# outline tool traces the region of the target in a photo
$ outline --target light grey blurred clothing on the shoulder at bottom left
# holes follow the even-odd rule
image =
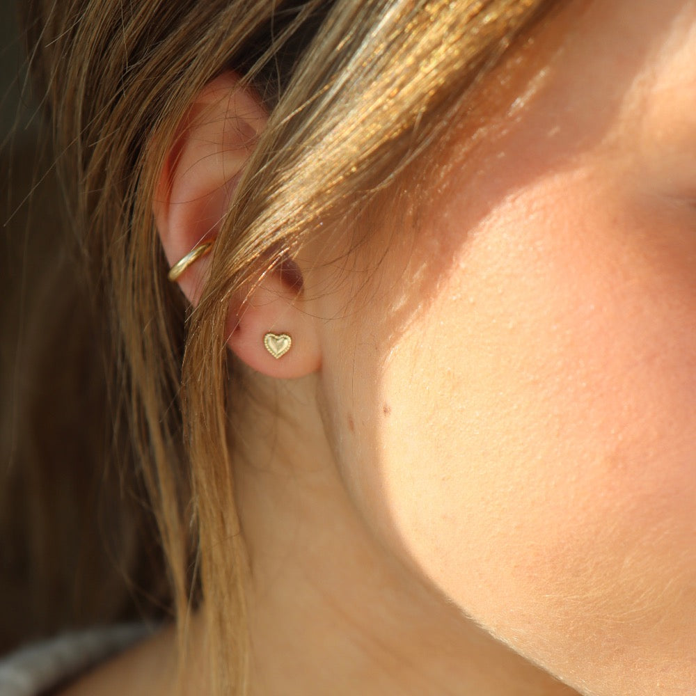
[[[141,624],[95,628],[19,649],[0,659],[0,696],[41,696],[141,640]]]

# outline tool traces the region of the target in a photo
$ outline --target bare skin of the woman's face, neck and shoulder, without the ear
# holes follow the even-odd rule
[[[322,368],[240,422],[253,694],[696,690],[696,2],[571,26],[411,232],[298,259]]]

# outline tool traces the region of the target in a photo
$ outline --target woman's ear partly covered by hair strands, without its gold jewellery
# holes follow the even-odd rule
[[[170,266],[200,242],[214,242],[266,123],[260,98],[251,88],[240,88],[233,72],[223,73],[198,95],[164,163],[153,203]],[[203,256],[177,278],[193,306],[200,299],[209,264],[210,256]],[[230,310],[228,345],[242,361],[258,372],[285,379],[318,370],[316,320],[304,308],[302,275],[293,262],[287,260],[269,271],[236,304]],[[264,343],[268,333],[289,335],[290,350],[279,358],[271,354]],[[271,348],[284,341],[267,340]]]

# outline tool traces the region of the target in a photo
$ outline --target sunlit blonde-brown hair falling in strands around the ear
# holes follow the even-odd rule
[[[24,3],[29,63],[54,128],[70,224],[111,310],[114,393],[129,413],[175,612],[184,626],[205,600],[219,693],[244,693],[248,672],[230,424],[244,391],[226,351],[230,298],[320,223],[377,205],[447,131],[473,86],[558,4]],[[230,68],[270,117],[190,312],[166,283],[152,196],[196,95]]]

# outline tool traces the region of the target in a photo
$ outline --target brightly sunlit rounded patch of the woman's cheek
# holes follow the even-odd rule
[[[693,645],[696,293],[659,228],[529,198],[553,204],[491,216],[390,352],[375,514],[501,638],[606,673],[612,641]]]

